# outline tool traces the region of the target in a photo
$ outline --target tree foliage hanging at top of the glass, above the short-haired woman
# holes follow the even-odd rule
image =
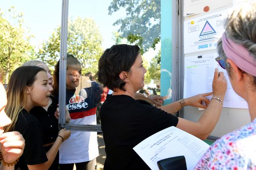
[[[142,54],[160,41],[160,0],[113,0],[108,14],[125,8],[127,17],[113,23],[122,37],[140,46]]]

